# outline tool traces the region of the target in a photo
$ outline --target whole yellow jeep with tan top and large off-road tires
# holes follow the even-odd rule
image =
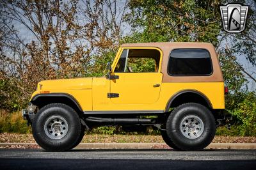
[[[48,151],[77,146],[84,130],[153,127],[175,150],[202,150],[225,122],[223,75],[211,43],[127,43],[106,77],[39,82],[24,119]]]

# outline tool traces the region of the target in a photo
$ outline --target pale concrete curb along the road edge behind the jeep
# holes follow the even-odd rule
[[[0,143],[6,146],[38,146],[36,143]],[[165,143],[80,143],[76,149],[167,149]],[[205,149],[218,150],[256,150],[256,143],[211,143]]]

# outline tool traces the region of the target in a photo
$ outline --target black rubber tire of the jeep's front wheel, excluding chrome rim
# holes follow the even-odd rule
[[[45,134],[45,121],[51,116],[61,116],[68,123],[68,132],[62,139],[51,139]],[[76,111],[64,104],[46,105],[35,116],[32,132],[36,143],[49,151],[65,151],[74,146],[81,133],[81,123]]]

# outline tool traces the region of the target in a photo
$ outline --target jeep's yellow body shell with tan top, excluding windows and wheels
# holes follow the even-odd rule
[[[173,49],[180,48],[206,49],[209,51],[212,61],[212,74],[205,76],[168,75],[166,68],[170,52]],[[125,49],[158,50],[160,59],[157,72],[115,72],[116,65]],[[195,97],[203,98],[205,100],[204,105],[211,109],[225,109],[223,77],[216,52],[211,43],[124,44],[116,53],[110,74],[117,75],[118,79],[90,77],[39,82],[31,97],[31,102],[38,100],[40,96],[63,95],[63,97],[70,97],[72,102],[76,102],[77,107],[84,114],[150,114],[168,112],[175,98],[189,93],[194,94]],[[117,94],[118,97],[109,97],[108,94]],[[196,101],[199,100],[191,98],[189,102]],[[201,99],[200,102],[202,102]],[[40,102],[35,103],[40,105]],[[179,104],[181,103],[182,101],[179,101]]]

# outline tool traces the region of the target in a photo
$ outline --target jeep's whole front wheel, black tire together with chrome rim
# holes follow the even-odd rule
[[[80,140],[82,129],[77,112],[65,104],[45,105],[32,123],[36,143],[47,151],[74,148]]]

